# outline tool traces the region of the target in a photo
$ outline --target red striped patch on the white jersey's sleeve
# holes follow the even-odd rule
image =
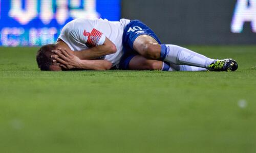
[[[99,39],[101,38],[103,33],[101,33],[100,31],[93,29],[91,33],[89,33],[86,45],[88,47],[94,47],[97,45],[97,43],[99,42]],[[84,32],[83,32],[84,35]],[[87,35],[87,32],[86,34]]]

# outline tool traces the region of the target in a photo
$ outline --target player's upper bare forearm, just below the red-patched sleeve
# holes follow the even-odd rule
[[[99,45],[93,48],[84,49],[78,52],[74,52],[75,56],[77,56],[81,60],[92,60],[98,59],[105,55],[110,55],[116,53],[115,46],[106,46],[106,45]]]

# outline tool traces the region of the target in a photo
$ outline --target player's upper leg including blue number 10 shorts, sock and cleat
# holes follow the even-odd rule
[[[124,30],[124,45],[147,59],[166,61],[177,65],[190,65],[214,71],[236,70],[231,59],[214,60],[187,48],[161,44],[156,34],[140,21],[132,21]]]

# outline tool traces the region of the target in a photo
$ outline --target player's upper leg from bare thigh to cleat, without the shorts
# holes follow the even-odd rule
[[[149,35],[138,36],[133,48],[146,58],[164,60],[177,65],[190,65],[216,71],[236,70],[238,67],[236,61],[231,59],[214,60],[181,46],[160,45]]]

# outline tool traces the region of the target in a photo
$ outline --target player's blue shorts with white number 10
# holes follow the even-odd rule
[[[124,55],[119,64],[119,69],[129,69],[129,63],[136,55],[139,53],[136,52],[133,48],[133,43],[137,37],[140,35],[148,35],[156,39],[156,41],[161,44],[157,35],[151,30],[147,25],[142,23],[139,20],[133,20],[126,25],[123,32],[123,51]]]

